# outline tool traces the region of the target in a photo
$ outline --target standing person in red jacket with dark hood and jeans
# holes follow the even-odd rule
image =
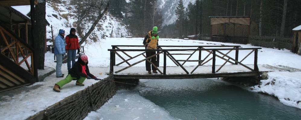
[[[79,44],[78,44],[78,37],[75,35],[75,28],[70,29],[70,34],[66,36],[66,52],[68,53],[68,63],[67,67],[68,70],[71,69],[71,67],[75,63],[75,57],[76,57],[76,49],[77,49],[77,54],[79,55]],[[71,65],[72,61],[72,65]]]

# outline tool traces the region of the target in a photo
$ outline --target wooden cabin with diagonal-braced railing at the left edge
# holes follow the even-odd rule
[[[0,1],[0,92],[37,82],[30,18],[11,7],[18,5],[30,5],[30,0]]]

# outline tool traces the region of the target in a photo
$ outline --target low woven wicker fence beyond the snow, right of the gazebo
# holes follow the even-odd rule
[[[270,36],[250,36],[249,44],[255,46],[278,48],[278,49],[289,49],[292,50],[293,38],[283,38],[283,37],[270,37]]]

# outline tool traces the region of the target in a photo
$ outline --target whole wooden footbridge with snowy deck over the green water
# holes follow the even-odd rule
[[[121,47],[138,47],[139,49],[120,49]],[[269,65],[257,64],[258,49],[261,48],[241,48],[241,46],[158,46],[158,48],[145,49],[144,46],[136,45],[112,45],[112,49],[108,49],[110,51],[110,66],[107,69],[107,74],[113,73],[114,78],[117,79],[190,79],[258,76],[260,74],[259,69],[264,71],[273,70]],[[155,51],[156,54],[146,57],[145,53],[147,51]],[[242,57],[240,56],[241,59],[239,59],[239,51],[245,53]],[[134,52],[135,56],[131,56],[130,52]],[[121,58],[122,62],[116,64],[116,55]],[[175,55],[181,55],[181,57],[176,56],[178,57],[176,58]],[[185,56],[182,55],[186,55],[187,58],[183,59]],[[137,65],[143,61],[155,65],[149,60],[154,56],[157,56],[157,66],[155,68],[159,73],[148,74],[145,66]],[[160,57],[163,57],[163,66],[161,67],[159,67]],[[246,58],[249,58],[248,62],[250,63],[250,57],[253,64],[243,64]],[[174,63],[173,66],[166,65],[167,58],[172,61],[169,63]],[[217,59],[224,61],[223,64],[216,65]],[[133,60],[136,61],[130,64],[130,61]],[[196,64],[184,65],[187,62]],[[121,64],[127,64],[127,66],[120,66]]]

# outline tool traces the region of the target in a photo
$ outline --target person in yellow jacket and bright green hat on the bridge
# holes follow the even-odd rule
[[[148,34],[145,36],[143,45],[145,46],[145,49],[157,49],[158,47],[158,41],[159,41],[159,36],[158,36],[158,27],[155,26],[153,27],[152,31],[149,31]],[[152,55],[155,55],[156,51],[149,51],[146,52],[146,57],[150,57]],[[157,57],[153,56],[152,58],[149,59],[155,66],[157,66]],[[153,73],[158,73],[155,68],[155,66],[152,65],[152,72]],[[148,71],[149,74],[151,74],[151,64],[148,61],[145,61],[145,66],[146,66],[146,71]]]

